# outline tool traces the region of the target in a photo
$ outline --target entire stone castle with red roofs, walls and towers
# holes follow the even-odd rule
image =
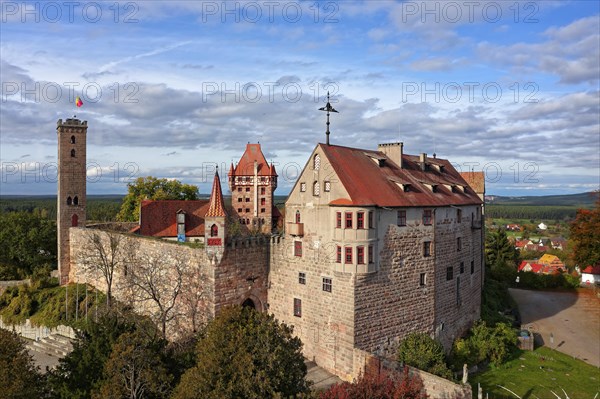
[[[293,325],[307,358],[351,379],[366,355],[393,351],[412,331],[450,348],[480,316],[482,173],[467,181],[447,160],[404,154],[402,143],[317,144],[282,216],[275,168],[248,144],[228,174],[230,208],[216,173],[208,202],[144,202],[138,235],[120,234],[85,227],[87,127],[57,125],[61,282],[106,289],[90,242],[110,249],[118,239],[114,296],[162,321],[167,335],[197,329],[223,306],[252,306]],[[265,234],[232,238],[232,220]],[[284,233],[270,234],[277,223]],[[177,243],[194,240],[203,247]],[[134,281],[144,271],[158,273],[165,293],[182,287],[170,314]]]

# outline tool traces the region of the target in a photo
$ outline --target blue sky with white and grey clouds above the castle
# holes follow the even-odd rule
[[[224,188],[260,142],[287,195],[319,142],[482,170],[491,195],[600,188],[597,1],[0,1],[0,194],[55,194],[88,121],[88,194]],[[75,106],[80,96],[83,106]]]

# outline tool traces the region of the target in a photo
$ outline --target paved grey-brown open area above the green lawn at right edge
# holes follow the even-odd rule
[[[543,344],[600,367],[600,300],[593,293],[509,289],[524,327]]]

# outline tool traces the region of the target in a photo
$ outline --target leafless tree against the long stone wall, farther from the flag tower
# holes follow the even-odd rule
[[[134,302],[146,306],[150,318],[161,327],[166,337],[167,323],[176,316],[178,298],[188,265],[184,252],[171,254],[138,253],[128,265],[127,283]]]

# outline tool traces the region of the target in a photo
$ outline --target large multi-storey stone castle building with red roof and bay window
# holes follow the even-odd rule
[[[450,348],[480,314],[482,207],[445,159],[318,144],[286,202],[269,309],[338,375],[411,331]]]

